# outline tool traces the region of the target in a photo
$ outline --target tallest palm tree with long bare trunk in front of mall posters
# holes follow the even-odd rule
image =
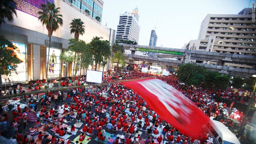
[[[40,16],[38,17],[38,20],[40,20],[40,22],[42,22],[42,25],[46,25],[46,29],[48,30],[48,37],[49,37],[49,49],[48,49],[48,57],[47,57],[47,62],[46,62],[46,82],[47,82],[47,67],[48,67],[48,60],[49,60],[49,54],[50,54],[50,45],[51,45],[51,37],[52,37],[52,33],[56,30],[58,30],[58,28],[60,26],[62,26],[63,24],[63,20],[62,20],[62,14],[58,14],[59,11],[59,7],[55,8],[55,4],[54,3],[50,3],[47,1],[46,4],[41,4],[41,8],[42,10],[37,12]]]

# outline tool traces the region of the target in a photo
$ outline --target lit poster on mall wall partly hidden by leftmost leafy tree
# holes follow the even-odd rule
[[[15,56],[20,63],[16,68],[16,71],[13,71],[11,75],[2,75],[2,83],[11,83],[11,82],[24,82],[27,80],[27,61],[26,61],[26,44],[12,42],[16,49],[10,48],[15,53]]]

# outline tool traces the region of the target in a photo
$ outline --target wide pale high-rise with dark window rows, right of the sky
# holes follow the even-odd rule
[[[201,23],[198,40],[191,40],[185,47],[256,56],[256,23],[252,22],[252,9],[245,8],[238,14],[207,14]],[[253,67],[232,62],[225,62],[223,65],[248,69]]]

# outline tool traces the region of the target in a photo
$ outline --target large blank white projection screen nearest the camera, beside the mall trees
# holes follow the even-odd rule
[[[86,82],[102,83],[102,72],[96,70],[86,70]]]

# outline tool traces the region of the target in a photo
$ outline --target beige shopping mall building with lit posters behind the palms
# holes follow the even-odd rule
[[[17,17],[13,22],[2,24],[0,33],[15,44],[24,62],[18,64],[16,72],[11,76],[2,75],[3,83],[28,82],[30,80],[44,79],[46,76],[46,60],[48,55],[48,31],[46,26],[38,20],[37,12],[40,4],[46,0],[14,0],[17,3]],[[89,43],[93,37],[108,40],[114,44],[116,31],[102,26],[95,17],[102,17],[102,0],[48,0],[60,7],[63,25],[52,34],[50,56],[56,58],[54,72],[48,70],[48,78],[60,78],[66,76],[66,68],[60,60],[60,54],[68,48],[68,40],[74,38],[70,34],[70,22],[74,18],[80,18],[84,22],[85,33],[80,39]],[[89,14],[84,10],[89,10]],[[80,72],[78,72],[80,74]],[[81,72],[85,74],[85,70]],[[67,64],[67,76],[72,75],[72,63]]]

